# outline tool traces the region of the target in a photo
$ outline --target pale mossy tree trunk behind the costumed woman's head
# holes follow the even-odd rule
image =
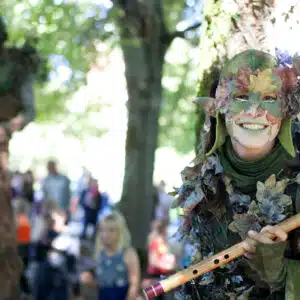
[[[218,69],[224,59],[246,49],[274,51],[268,38],[268,24],[273,22],[274,0],[206,0],[205,22],[200,42],[198,96],[212,96]],[[205,115],[199,107],[196,123],[196,149],[203,150],[201,132]]]

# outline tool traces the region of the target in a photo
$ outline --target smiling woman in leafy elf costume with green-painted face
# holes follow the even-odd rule
[[[224,66],[216,97],[197,99],[209,116],[207,145],[202,159],[183,170],[175,201],[185,212],[180,237],[195,248],[191,263],[245,239],[249,230],[274,232],[267,225],[300,207],[300,176],[288,166],[295,155],[291,120],[300,111],[298,64],[299,57],[287,66],[268,53],[244,51]],[[288,243],[286,234],[275,236],[277,243],[250,232],[248,259],[199,277],[177,298],[194,299],[197,289],[204,300],[298,299],[300,264],[293,260],[300,258],[300,233]]]

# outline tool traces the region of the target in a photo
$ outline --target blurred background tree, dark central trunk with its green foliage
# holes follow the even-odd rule
[[[89,134],[90,113],[99,109],[100,104],[91,103],[82,113],[74,114],[68,109],[68,98],[84,85],[86,73],[97,61],[100,43],[105,42],[110,48],[121,46],[129,98],[121,207],[129,221],[134,244],[139,247],[144,246],[153,210],[153,162],[161,110],[163,144],[169,144],[164,137],[170,139],[174,135],[184,151],[190,150],[187,144],[192,145],[191,135],[187,143],[181,142],[185,126],[179,133],[174,130],[177,124],[186,125],[181,114],[174,118],[165,115],[183,107],[182,99],[192,91],[185,89],[184,82],[190,62],[184,61],[176,68],[166,64],[164,58],[176,38],[188,38],[191,45],[196,45],[197,35],[192,31],[200,23],[194,20],[193,14],[200,15],[199,2],[116,0],[111,5],[109,1],[96,4],[93,1],[3,0],[0,4],[9,24],[9,42],[22,46],[25,39],[30,39],[46,58],[42,75],[48,82],[38,84],[35,89],[38,120],[63,121],[68,125],[66,132],[73,135]],[[192,21],[186,22],[189,19]],[[164,94],[163,73],[180,78],[178,87],[173,91],[165,89]],[[185,108],[182,115],[183,111]],[[172,122],[163,122],[169,117]],[[188,129],[192,129],[191,125]]]

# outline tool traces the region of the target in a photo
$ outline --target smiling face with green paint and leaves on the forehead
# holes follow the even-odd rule
[[[277,137],[282,121],[280,78],[271,69],[240,69],[228,90],[227,132],[245,148],[263,149]]]

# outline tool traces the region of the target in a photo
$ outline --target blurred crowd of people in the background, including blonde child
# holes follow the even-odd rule
[[[156,189],[144,271],[124,217],[97,180],[85,171],[71,189],[70,179],[55,161],[48,162],[47,170],[38,185],[31,171],[11,174],[24,264],[16,299],[136,300],[142,287],[175,270],[182,253],[170,247],[172,197],[163,181]]]

